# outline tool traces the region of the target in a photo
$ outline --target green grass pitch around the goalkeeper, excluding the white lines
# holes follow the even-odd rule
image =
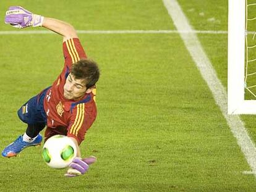
[[[179,0],[196,30],[227,30],[228,1]],[[77,30],[175,30],[158,0],[3,1],[66,20]],[[26,30],[42,30],[29,28]],[[255,191],[254,175],[181,37],[79,34],[100,65],[98,117],[81,144],[98,161],[81,177],[49,168],[41,147],[0,158],[0,191]],[[227,86],[227,35],[198,34]],[[63,66],[55,34],[0,35],[0,148],[23,134],[16,111],[51,85]],[[253,141],[255,118],[242,115]]]

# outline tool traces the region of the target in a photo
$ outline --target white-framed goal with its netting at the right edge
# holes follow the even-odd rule
[[[228,114],[256,114],[256,0],[229,0]]]

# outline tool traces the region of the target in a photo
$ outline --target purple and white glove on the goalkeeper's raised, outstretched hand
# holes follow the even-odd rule
[[[25,28],[30,26],[41,27],[43,20],[44,17],[41,15],[32,14],[32,12],[20,6],[12,6],[6,11],[4,22],[11,24],[12,27]]]

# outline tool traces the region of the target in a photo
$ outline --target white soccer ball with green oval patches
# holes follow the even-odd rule
[[[43,145],[43,159],[49,167],[62,169],[77,156],[77,147],[68,136],[54,135]]]

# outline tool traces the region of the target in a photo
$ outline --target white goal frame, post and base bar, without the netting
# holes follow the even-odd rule
[[[256,101],[245,100],[245,3],[228,4],[228,114],[256,114]]]

